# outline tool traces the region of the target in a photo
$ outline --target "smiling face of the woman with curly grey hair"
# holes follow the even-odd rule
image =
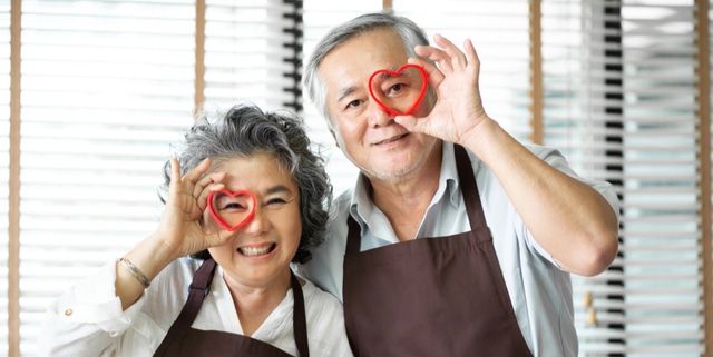
[[[223,267],[228,286],[268,287],[276,281],[289,281],[290,261],[302,236],[297,184],[266,153],[233,158],[213,171],[227,173],[222,181],[225,189],[232,192],[248,190],[256,199],[255,216],[236,230],[224,231],[232,235],[225,245],[208,248],[215,261]],[[241,205],[225,196],[216,195],[214,198],[214,209],[218,215],[228,216],[231,210],[244,209],[235,206]],[[223,229],[208,210],[203,218],[207,231]]]

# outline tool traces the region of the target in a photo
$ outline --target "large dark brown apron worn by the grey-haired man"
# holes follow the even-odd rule
[[[455,146],[470,231],[361,251],[349,217],[344,317],[354,356],[533,356],[510,304],[465,149]]]

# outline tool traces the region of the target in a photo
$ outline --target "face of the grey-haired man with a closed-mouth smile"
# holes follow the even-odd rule
[[[370,178],[388,180],[414,172],[438,142],[409,132],[369,95],[369,78],[374,71],[395,70],[407,65],[407,59],[401,38],[390,29],[377,29],[334,48],[319,68],[336,143]],[[424,117],[431,106],[424,98],[412,115]]]

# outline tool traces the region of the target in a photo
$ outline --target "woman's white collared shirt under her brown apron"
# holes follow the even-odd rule
[[[188,297],[188,286],[203,260],[182,258],[152,281],[126,310],[116,297],[115,262],[80,281],[48,308],[39,334],[40,356],[150,357],[163,341]],[[311,356],[352,356],[341,304],[307,281],[303,287]],[[282,303],[251,336],[297,356],[290,289]],[[217,266],[195,329],[243,334],[233,298]]]

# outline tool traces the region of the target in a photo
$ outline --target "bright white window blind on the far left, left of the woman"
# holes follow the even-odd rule
[[[20,351],[49,303],[157,224],[192,122],[193,1],[22,1]]]

